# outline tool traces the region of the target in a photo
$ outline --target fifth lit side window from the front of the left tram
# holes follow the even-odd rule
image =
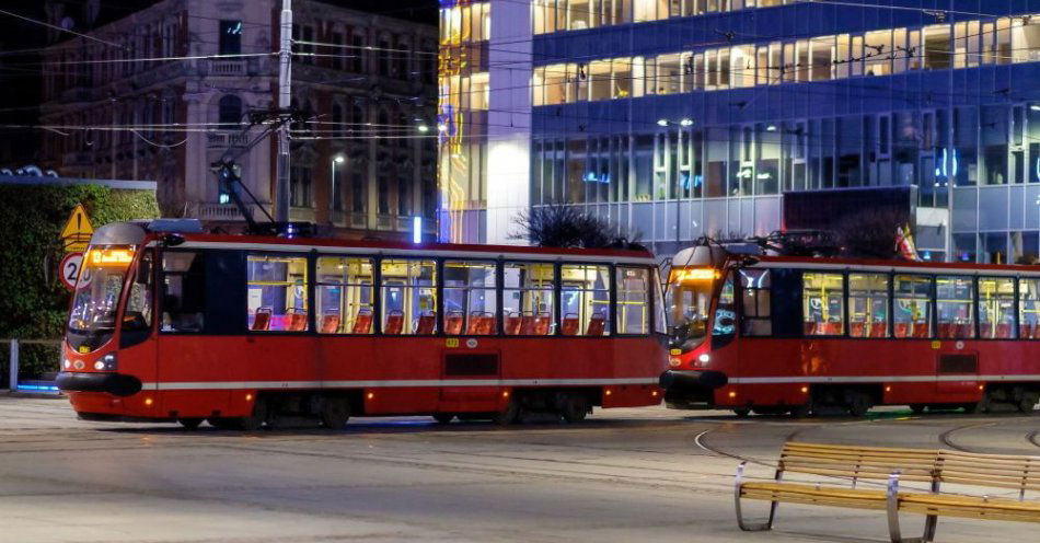
[[[502,325],[506,334],[553,334],[553,265],[507,263],[502,273]]]

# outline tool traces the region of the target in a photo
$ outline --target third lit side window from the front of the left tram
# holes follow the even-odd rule
[[[383,334],[437,332],[437,263],[386,258],[382,262]]]

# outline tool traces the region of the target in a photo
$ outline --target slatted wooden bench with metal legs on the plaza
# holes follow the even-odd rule
[[[889,535],[897,543],[932,541],[940,516],[1040,522],[1040,501],[1026,499],[1027,492],[1040,490],[1040,458],[789,442],[781,452],[773,481],[744,481],[746,466],[747,462],[741,462],[737,469],[735,488],[737,524],[744,531],[772,529],[782,501],[885,510]],[[785,481],[786,474],[823,476],[830,482]],[[864,481],[877,486],[859,485]],[[900,488],[905,482],[921,483],[922,487]],[[1018,496],[993,498],[940,492],[944,484],[975,490],[1018,490]],[[742,498],[770,501],[769,520],[746,522]],[[902,538],[900,511],[926,517],[922,538]]]

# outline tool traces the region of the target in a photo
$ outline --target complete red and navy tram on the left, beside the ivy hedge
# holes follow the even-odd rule
[[[91,240],[58,386],[82,418],[277,426],[660,403],[645,251],[405,245],[115,223]],[[285,417],[285,418],[284,418]]]

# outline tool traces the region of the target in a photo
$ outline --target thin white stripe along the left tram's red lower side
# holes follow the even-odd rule
[[[212,381],[143,383],[145,390],[241,390],[241,389],[379,389],[426,386],[590,386],[606,384],[657,384],[657,378],[612,379],[421,379],[393,381]]]

